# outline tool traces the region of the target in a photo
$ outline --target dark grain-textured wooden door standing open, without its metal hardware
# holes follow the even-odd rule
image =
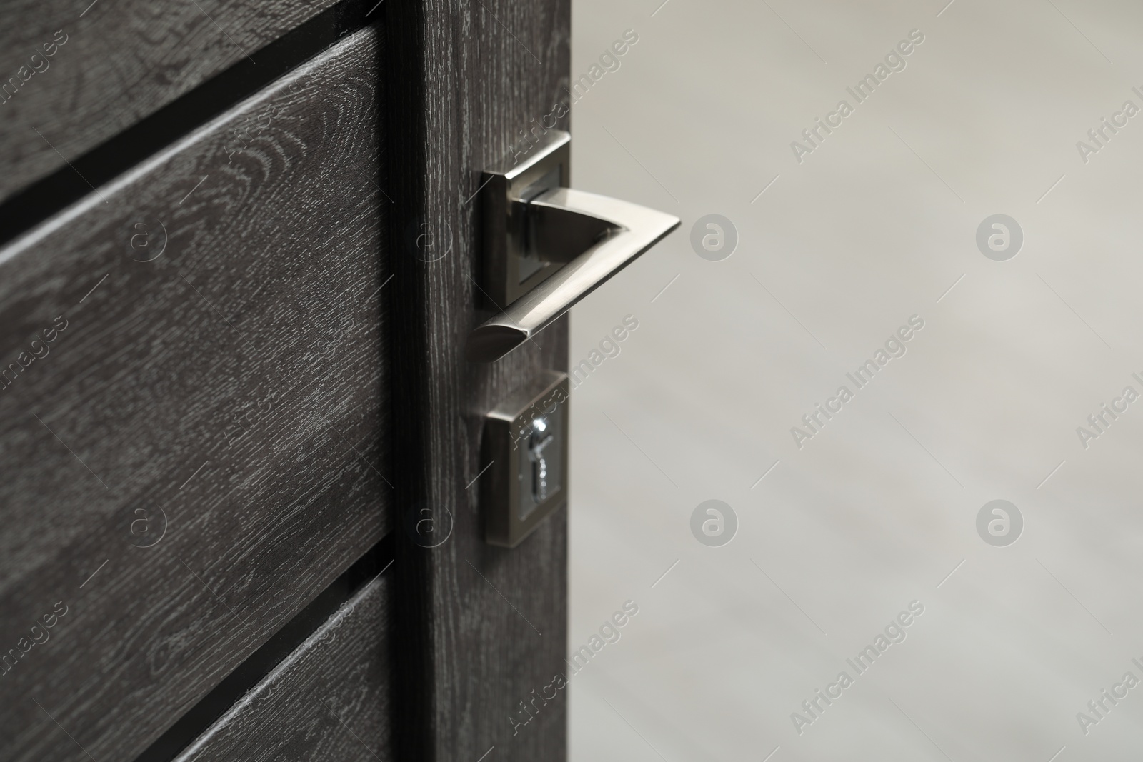
[[[565,513],[473,484],[566,322],[464,339],[567,3],[81,5],[0,32],[0,759],[561,759]]]

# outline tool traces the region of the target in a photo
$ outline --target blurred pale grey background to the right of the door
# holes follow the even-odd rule
[[[1138,759],[1143,5],[661,2],[573,5],[574,77],[638,35],[573,106],[574,184],[682,225],[573,313],[573,366],[605,359],[572,398],[572,650],[639,611],[572,677],[572,759]],[[709,214],[720,260],[690,241]],[[996,214],[1006,260],[976,242]],[[720,546],[692,531],[711,499]],[[1023,520],[1004,546],[994,499]]]

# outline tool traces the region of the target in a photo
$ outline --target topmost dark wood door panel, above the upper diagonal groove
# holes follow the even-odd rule
[[[0,90],[0,200],[66,167],[65,159],[112,137],[334,3],[6,3],[0,26],[0,83],[7,86]]]

